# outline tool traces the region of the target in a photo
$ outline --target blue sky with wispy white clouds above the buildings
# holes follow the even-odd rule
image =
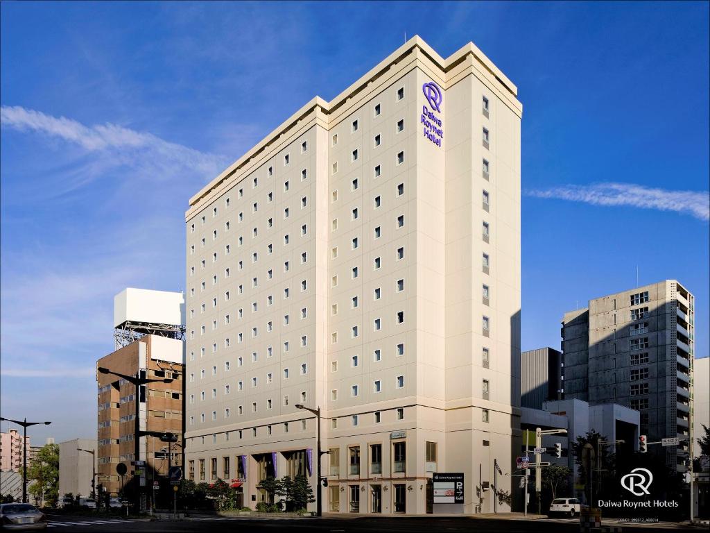
[[[708,6],[3,2],[3,416],[94,436],[112,298],[182,289],[188,198],[405,33],[473,41],[518,85],[523,349],[638,265],[694,292],[706,356]]]

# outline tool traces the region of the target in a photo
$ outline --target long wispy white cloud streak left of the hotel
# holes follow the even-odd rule
[[[206,178],[216,176],[227,162],[224,156],[171,143],[143,131],[110,123],[85,126],[72,119],[52,117],[21,106],[2,106],[0,122],[6,128],[58,137],[87,151],[120,150],[123,156],[117,160],[120,163],[126,162],[126,156],[131,157],[136,151],[141,151],[148,156],[143,157],[143,161],[169,169],[173,176],[186,169]]]

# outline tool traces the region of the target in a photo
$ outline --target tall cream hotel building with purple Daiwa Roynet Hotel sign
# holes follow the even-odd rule
[[[190,198],[187,478],[252,508],[267,475],[316,488],[304,404],[324,512],[431,512],[434,472],[493,510],[520,452],[516,95],[473,43],[414,37]]]

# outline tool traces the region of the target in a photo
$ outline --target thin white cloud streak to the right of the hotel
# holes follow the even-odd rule
[[[633,183],[593,183],[525,190],[525,195],[592,205],[630,205],[642,209],[675,211],[699,220],[710,220],[710,194],[706,190],[667,190]]]

